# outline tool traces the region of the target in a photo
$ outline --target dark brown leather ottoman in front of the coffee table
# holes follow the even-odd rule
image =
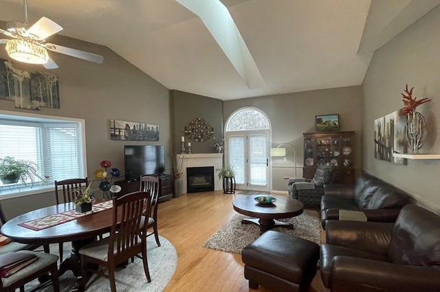
[[[274,230],[243,248],[249,287],[274,291],[307,291],[316,274],[319,245]]]

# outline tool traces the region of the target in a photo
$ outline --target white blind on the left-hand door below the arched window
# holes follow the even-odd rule
[[[228,137],[228,165],[234,167],[235,182],[245,183],[245,136]]]

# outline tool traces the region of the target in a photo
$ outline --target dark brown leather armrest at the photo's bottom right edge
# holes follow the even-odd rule
[[[377,289],[377,290],[376,290]],[[335,256],[331,291],[439,291],[440,269]]]

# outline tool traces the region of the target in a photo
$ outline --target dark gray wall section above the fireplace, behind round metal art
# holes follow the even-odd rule
[[[211,127],[214,127],[214,136],[217,140],[222,138],[223,132],[223,101],[185,93],[179,90],[170,90],[171,116],[173,117],[173,141],[175,153],[179,154],[181,149],[181,136],[184,136],[184,128],[194,118],[203,118]],[[213,153],[215,150],[210,147],[212,138],[208,141],[196,142],[185,138],[185,149],[188,151],[188,142],[191,143],[192,153]]]

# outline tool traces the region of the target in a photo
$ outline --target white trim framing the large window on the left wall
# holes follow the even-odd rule
[[[87,177],[87,153],[86,153],[86,141],[85,141],[85,119],[76,119],[70,117],[57,117],[49,116],[45,114],[34,114],[30,112],[13,112],[8,110],[0,110],[0,119],[5,119],[6,121],[11,121],[11,123],[16,123],[17,121],[23,121],[23,123],[32,123],[35,119],[39,119],[39,123],[78,123],[78,137],[80,137],[80,158],[82,158],[82,163],[80,164],[83,169],[81,171],[84,176]],[[0,200],[10,199],[14,197],[23,197],[28,195],[34,195],[38,193],[47,193],[54,191],[53,184],[42,184],[39,186],[34,186],[34,188],[26,189],[25,191],[18,191],[17,193],[0,193]]]

